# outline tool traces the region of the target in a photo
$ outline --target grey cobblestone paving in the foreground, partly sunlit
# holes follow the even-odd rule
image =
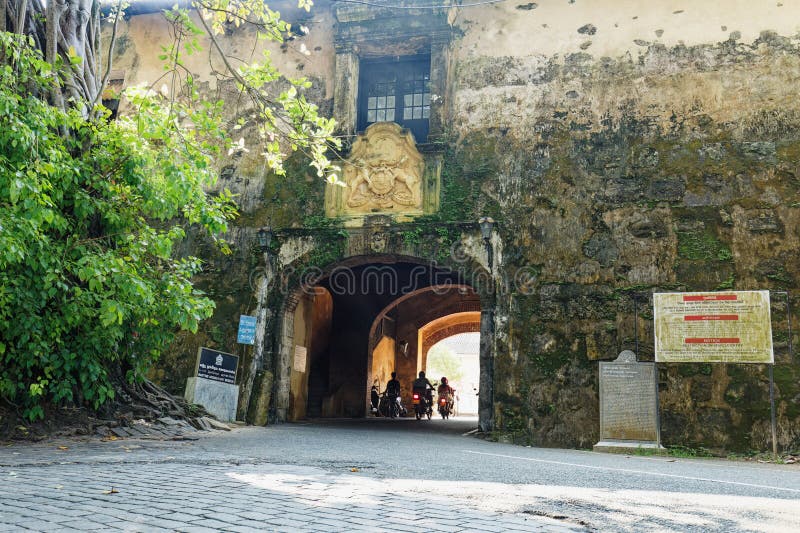
[[[253,459],[208,460],[177,446],[62,441],[5,450],[0,531],[584,529],[439,495],[430,481],[375,479],[355,467],[336,473]],[[164,455],[170,452],[175,455]]]

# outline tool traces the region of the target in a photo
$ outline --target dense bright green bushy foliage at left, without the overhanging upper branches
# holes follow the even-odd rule
[[[140,91],[135,116],[91,121],[34,96],[54,77],[31,44],[0,34],[0,395],[35,419],[47,402],[99,407],[197,329],[213,302],[173,246],[182,226],[216,235],[235,211],[203,190],[219,106],[170,111]],[[176,111],[195,127],[165,120]]]

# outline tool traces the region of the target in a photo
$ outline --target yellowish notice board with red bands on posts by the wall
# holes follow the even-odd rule
[[[659,363],[773,363],[769,291],[653,295]]]

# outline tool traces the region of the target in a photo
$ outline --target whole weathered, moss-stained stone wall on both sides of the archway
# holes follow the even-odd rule
[[[465,239],[485,267],[477,228],[464,223],[497,220],[497,429],[538,444],[596,442],[596,361],[636,347],[634,331],[640,356],[652,357],[655,290],[797,288],[800,8],[784,4],[543,0],[450,11],[447,64],[434,65],[447,69],[440,208],[389,228],[385,253],[458,266],[451,246]],[[166,27],[151,17],[122,33],[116,67],[128,84],[159,75],[154,35]],[[287,73],[311,77],[309,97],[330,110],[335,22],[320,2],[305,22],[311,34],[293,41],[310,59],[294,45],[273,51]],[[239,36],[225,39],[242,49]],[[208,73],[207,61],[192,66]],[[233,98],[204,79],[210,94]],[[253,244],[267,220],[283,229],[280,265],[324,268],[364,253],[353,230],[324,218],[323,184],[299,159],[286,178],[252,153],[220,168],[221,184],[241,195],[236,252],[191,245],[209,260],[202,285],[218,308],[165,361],[176,389],[199,344],[234,345],[235,317],[255,305],[248,280],[263,257]],[[282,297],[270,296],[273,331]],[[776,295],[779,439],[796,447],[800,364],[785,323]],[[660,365],[659,381],[666,443],[767,448],[764,367]]]

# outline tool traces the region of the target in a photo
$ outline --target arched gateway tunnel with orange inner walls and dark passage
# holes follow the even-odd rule
[[[350,257],[318,272],[291,292],[278,316],[277,421],[363,417],[371,385],[383,390],[392,371],[403,395],[410,394],[431,341],[446,337],[447,326],[491,336],[491,321],[481,320],[491,300],[480,294],[480,272],[476,283],[471,272],[383,254]],[[482,426],[492,411],[488,341],[481,342]]]

